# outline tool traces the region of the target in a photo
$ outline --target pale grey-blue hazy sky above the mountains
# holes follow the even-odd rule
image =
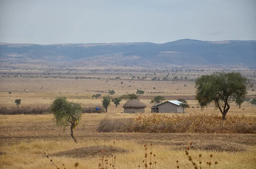
[[[0,0],[0,42],[256,40],[256,0]]]

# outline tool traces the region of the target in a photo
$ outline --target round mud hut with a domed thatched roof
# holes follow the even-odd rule
[[[124,113],[144,113],[146,105],[139,100],[128,100],[123,108]]]

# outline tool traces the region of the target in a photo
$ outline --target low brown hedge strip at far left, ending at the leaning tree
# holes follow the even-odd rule
[[[13,107],[5,107],[0,106],[0,115],[42,115],[42,114],[49,114],[49,106],[17,106]]]

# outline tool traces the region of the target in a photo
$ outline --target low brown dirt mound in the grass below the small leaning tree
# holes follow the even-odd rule
[[[120,153],[129,152],[127,149],[121,149],[119,147],[113,146],[90,146],[90,147],[81,147],[78,149],[67,150],[64,152],[58,152],[52,154],[52,156],[56,157],[69,157],[69,158],[85,158],[85,157],[93,157],[97,155],[116,155]]]

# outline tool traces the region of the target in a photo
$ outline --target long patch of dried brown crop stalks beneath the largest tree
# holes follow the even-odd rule
[[[228,115],[227,120],[215,114],[189,116],[139,115],[135,119],[100,121],[98,132],[148,133],[251,133],[256,134],[256,117]]]

